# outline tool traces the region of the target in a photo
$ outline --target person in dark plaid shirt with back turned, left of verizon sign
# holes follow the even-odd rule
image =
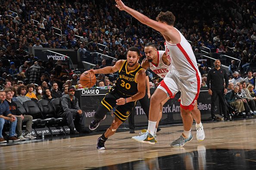
[[[37,64],[34,64],[29,68],[28,75],[30,83],[37,83],[40,81],[41,75],[44,73],[44,67],[41,66],[42,64],[43,61],[38,60]]]

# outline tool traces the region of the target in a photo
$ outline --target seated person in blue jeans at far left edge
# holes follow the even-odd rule
[[[6,99],[6,92],[0,91],[0,105],[1,105],[1,112],[0,112],[0,143],[6,143],[6,140],[2,136],[3,131],[3,124],[9,123],[9,142],[12,141],[19,141],[15,135],[15,129],[17,124],[17,119],[9,110],[9,105]]]

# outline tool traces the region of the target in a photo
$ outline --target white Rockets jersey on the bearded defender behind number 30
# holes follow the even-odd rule
[[[169,66],[165,65],[162,61],[162,55],[165,53],[165,51],[157,51],[157,64],[153,64],[152,62],[149,62],[150,64],[150,70],[152,70],[154,73],[156,73],[159,77],[164,78],[166,74],[171,69],[172,64]]]

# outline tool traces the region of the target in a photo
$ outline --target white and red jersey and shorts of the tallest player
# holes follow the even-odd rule
[[[171,98],[181,91],[181,107],[192,110],[200,93],[202,80],[193,50],[180,31],[178,32],[181,36],[180,43],[171,44],[165,41],[165,53],[172,68],[158,88]]]

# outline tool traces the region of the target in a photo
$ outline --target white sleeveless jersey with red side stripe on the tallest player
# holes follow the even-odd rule
[[[179,30],[177,31],[181,36],[180,43],[171,44],[165,41],[165,53],[167,59],[172,63],[172,72],[182,79],[189,79],[191,76],[196,75],[200,76],[196,57],[190,43],[187,42]]]

